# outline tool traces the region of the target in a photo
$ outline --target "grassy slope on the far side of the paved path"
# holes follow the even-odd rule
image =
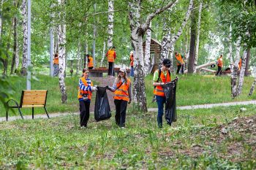
[[[79,112],[78,106],[78,78],[66,77],[65,84],[67,89],[67,104],[61,104],[61,93],[59,92],[59,78],[49,77],[46,75],[38,75],[31,80],[31,89],[48,90],[48,101],[46,107],[49,113],[53,112]],[[94,80],[92,77],[91,80]],[[157,107],[157,103],[152,103],[153,85],[152,75],[146,78],[146,97],[149,107]],[[21,90],[26,89],[26,77],[10,77],[12,88],[15,90],[14,98],[20,103]],[[194,104],[213,104],[227,101],[249,101],[256,99],[256,94],[253,93],[248,97],[249,88],[252,85],[253,78],[245,77],[244,88],[241,96],[238,98],[230,97],[230,77],[203,77],[200,75],[180,76],[177,86],[176,103],[177,106],[186,106]],[[111,82],[112,83],[112,82]],[[94,82],[98,85],[99,82]],[[92,102],[94,102],[95,93],[93,93]],[[31,115],[31,108],[22,109],[24,115]],[[44,114],[42,108],[36,108],[35,114]],[[0,104],[0,116],[5,115],[3,104]],[[18,110],[15,113],[10,113],[10,116],[18,115]]]

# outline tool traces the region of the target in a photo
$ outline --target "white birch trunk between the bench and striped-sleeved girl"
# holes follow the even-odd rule
[[[64,6],[63,0],[58,0],[60,6]],[[63,9],[61,10],[64,11]],[[67,103],[67,93],[65,85],[65,68],[66,68],[66,25],[64,24],[64,18],[61,18],[59,14],[59,28],[58,28],[58,47],[59,47],[59,88],[61,91],[62,104]]]

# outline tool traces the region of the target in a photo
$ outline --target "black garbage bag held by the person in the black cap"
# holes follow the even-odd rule
[[[165,120],[168,125],[177,121],[177,113],[176,113],[176,87],[177,87],[178,78],[171,82],[167,82],[162,87],[165,90]]]

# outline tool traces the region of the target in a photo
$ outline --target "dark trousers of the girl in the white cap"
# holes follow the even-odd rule
[[[116,124],[120,127],[125,126],[125,117],[127,115],[127,101],[123,100],[114,100],[114,103],[116,105]]]

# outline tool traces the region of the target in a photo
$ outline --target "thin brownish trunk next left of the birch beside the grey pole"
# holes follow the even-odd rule
[[[13,1],[14,7],[17,7],[17,0]],[[17,38],[17,17],[13,17],[13,53],[12,53],[12,66],[11,66],[11,73],[13,74],[13,69],[15,67],[15,60],[17,60],[18,55],[18,38]]]

